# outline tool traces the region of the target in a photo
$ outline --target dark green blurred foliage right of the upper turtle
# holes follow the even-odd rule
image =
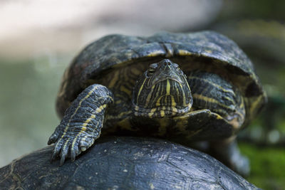
[[[224,1],[209,29],[232,38],[254,63],[269,97],[240,132],[241,151],[252,165],[248,180],[261,189],[285,187],[285,1]]]

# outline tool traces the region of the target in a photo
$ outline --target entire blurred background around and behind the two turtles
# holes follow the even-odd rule
[[[239,134],[247,180],[285,187],[285,1],[1,1],[0,167],[46,146],[61,76],[84,46],[108,33],[211,29],[252,59],[269,102]],[[147,14],[145,14],[147,12]]]

